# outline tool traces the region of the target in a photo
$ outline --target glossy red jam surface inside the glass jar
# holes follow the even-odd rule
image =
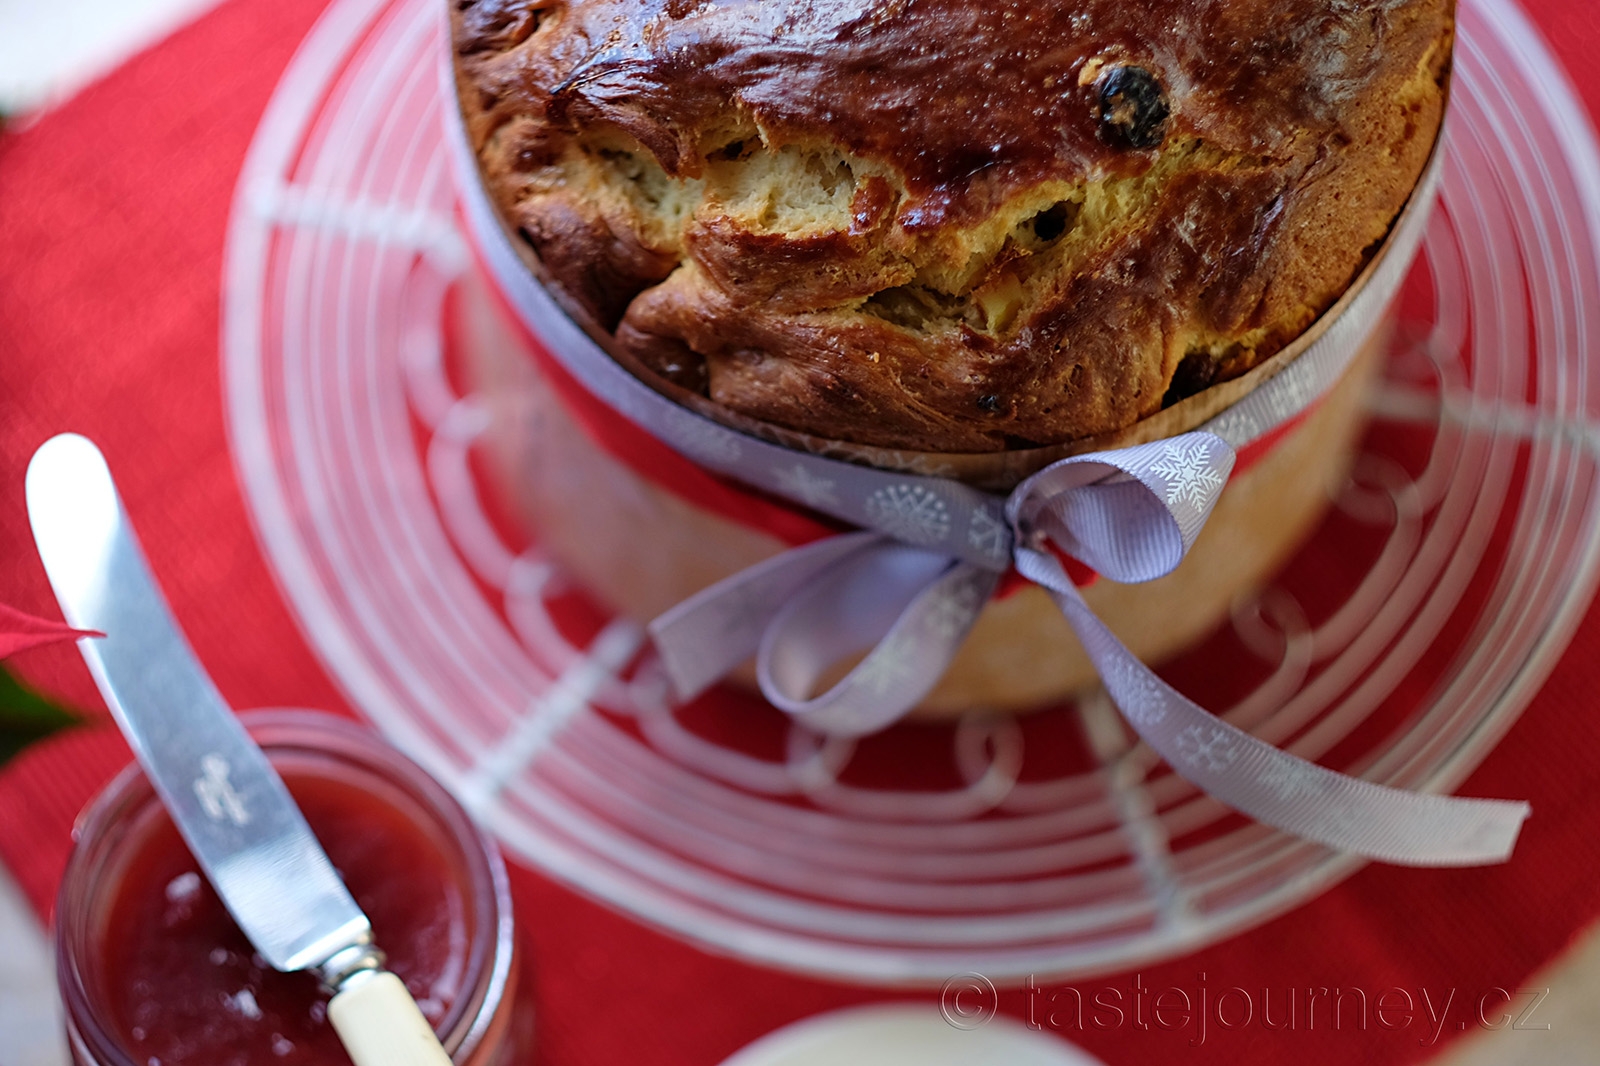
[[[410,799],[280,767],[378,944],[435,1028],[462,991],[464,874]],[[382,786],[379,786],[382,787]],[[98,943],[101,996],[141,1066],[349,1063],[310,973],[278,973],[222,908],[166,812],[142,820]]]

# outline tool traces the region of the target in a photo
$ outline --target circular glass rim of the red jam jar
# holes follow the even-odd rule
[[[440,1040],[456,1061],[470,1058],[493,1028],[515,956],[510,879],[499,848],[443,784],[354,719],[302,709],[246,711],[238,719],[274,762],[285,755],[310,755],[333,767],[365,771],[397,787],[432,818],[437,837],[451,850],[450,858],[462,864],[461,884],[474,919],[462,992],[445,1015]],[[101,1066],[146,1066],[115,1036],[117,1026],[98,1002],[85,964],[93,957],[93,916],[110,904],[115,890],[115,884],[99,874],[125,858],[126,847],[139,837],[120,831],[158,808],[155,787],[139,763],[130,762],[78,813],[56,896],[56,981],[67,1034],[74,1050],[88,1053]]]

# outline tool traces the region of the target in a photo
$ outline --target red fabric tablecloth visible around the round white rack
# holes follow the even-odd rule
[[[1528,0],[1579,90],[1600,106],[1600,6]],[[51,434],[93,435],[178,616],[238,707],[339,707],[256,547],[227,456],[218,367],[219,277],[234,181],[258,117],[322,0],[232,0],[66,107],[0,134],[0,600],[58,616],[22,509],[29,455]],[[1472,871],[1368,868],[1315,903],[1187,959],[1144,970],[1150,989],[1410,989],[1411,1026],[1208,1034],[1131,1024],[1069,1032],[1114,1066],[1411,1063],[1437,1053],[1421,992],[1454,989],[1440,1044],[1475,996],[1517,989],[1600,916],[1600,618],[1506,743],[1464,787],[1534,805],[1515,861]],[[11,664],[99,707],[70,647]],[[98,712],[99,714],[99,712]],[[0,858],[46,911],[75,812],[126,760],[104,717],[0,773]],[[517,877],[538,959],[538,1061],[709,1066],[830,1007],[883,999],[714,957],[533,872]],[[1198,975],[1205,975],[1200,978]],[[1083,983],[1128,988],[1131,975]],[[1469,1005],[1470,999],[1470,1005]],[[1021,994],[1008,1010],[1026,1012]],[[1259,1005],[1259,999],[1258,999]],[[1491,1002],[1490,1020],[1499,1010]],[[1470,1026],[1469,1026],[1470,1028]],[[1536,1039],[1538,1034],[1528,1034]]]

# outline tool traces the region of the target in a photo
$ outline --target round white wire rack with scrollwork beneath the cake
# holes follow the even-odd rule
[[[496,522],[445,359],[467,266],[438,0],[339,0],[234,206],[234,455],[352,703],[523,861],[725,954],[853,981],[1059,978],[1259,924],[1358,861],[1232,815],[1102,695],[861,743],[747,696],[674,709]],[[1570,640],[1600,552],[1600,155],[1507,0],[1464,0],[1442,208],[1338,506],[1163,674],[1338,770],[1450,791]],[[1205,663],[1227,656],[1219,677]]]

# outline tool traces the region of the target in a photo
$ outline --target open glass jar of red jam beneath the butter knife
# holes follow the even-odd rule
[[[528,1061],[506,864],[421,767],[326,714],[242,715],[456,1066]],[[56,903],[77,1066],[347,1063],[309,973],[277,973],[203,882],[138,765],[78,816]]]

